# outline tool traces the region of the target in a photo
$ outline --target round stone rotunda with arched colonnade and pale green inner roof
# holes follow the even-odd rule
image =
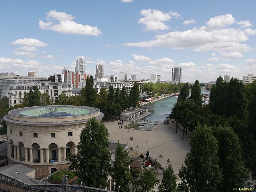
[[[7,124],[9,163],[36,168],[36,177],[69,167],[68,153],[77,153],[79,134],[87,121],[101,121],[99,109],[84,106],[37,106],[14,109]]]

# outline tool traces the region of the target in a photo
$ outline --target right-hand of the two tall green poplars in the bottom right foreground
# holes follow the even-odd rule
[[[238,137],[230,127],[221,125],[216,129],[215,137],[219,143],[218,157],[222,176],[219,191],[243,188],[248,172],[244,167]]]

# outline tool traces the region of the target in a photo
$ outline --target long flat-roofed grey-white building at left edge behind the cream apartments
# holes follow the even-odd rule
[[[26,77],[16,75],[15,73],[0,73],[0,99],[3,96],[8,97],[8,90],[12,84],[35,81],[51,82],[47,77]]]

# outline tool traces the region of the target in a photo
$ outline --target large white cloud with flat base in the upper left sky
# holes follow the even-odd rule
[[[53,30],[64,34],[76,34],[76,35],[93,35],[98,36],[102,32],[97,28],[97,26],[92,27],[90,25],[82,25],[74,22],[74,16],[67,14],[65,12],[57,12],[56,10],[51,10],[46,13],[46,20],[39,21],[39,27],[43,30]]]

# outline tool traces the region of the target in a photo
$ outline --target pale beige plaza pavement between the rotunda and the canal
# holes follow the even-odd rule
[[[140,116],[140,118],[143,118],[143,116]],[[133,121],[136,119],[133,119]],[[122,126],[126,124],[128,124],[128,122],[124,121]],[[172,128],[170,125],[161,124],[153,131],[130,129],[130,132],[128,132],[126,128],[118,129],[119,125],[116,121],[105,123],[105,125],[109,132],[109,139],[115,141],[119,140],[120,143],[124,144],[128,143],[129,147],[131,147],[132,142],[129,140],[129,137],[133,136],[134,150],[146,153],[147,149],[149,149],[150,156],[157,159],[163,167],[167,166],[167,159],[169,159],[174,174],[178,173],[181,165],[184,164],[187,152],[190,151],[190,140],[187,139],[185,135],[184,140],[181,140],[183,133],[179,129],[177,129],[176,133],[175,124],[172,124]],[[139,144],[138,149],[136,148],[137,144]],[[158,157],[160,152],[163,154],[163,158]],[[159,170],[159,179],[161,179],[161,172],[162,171]]]

